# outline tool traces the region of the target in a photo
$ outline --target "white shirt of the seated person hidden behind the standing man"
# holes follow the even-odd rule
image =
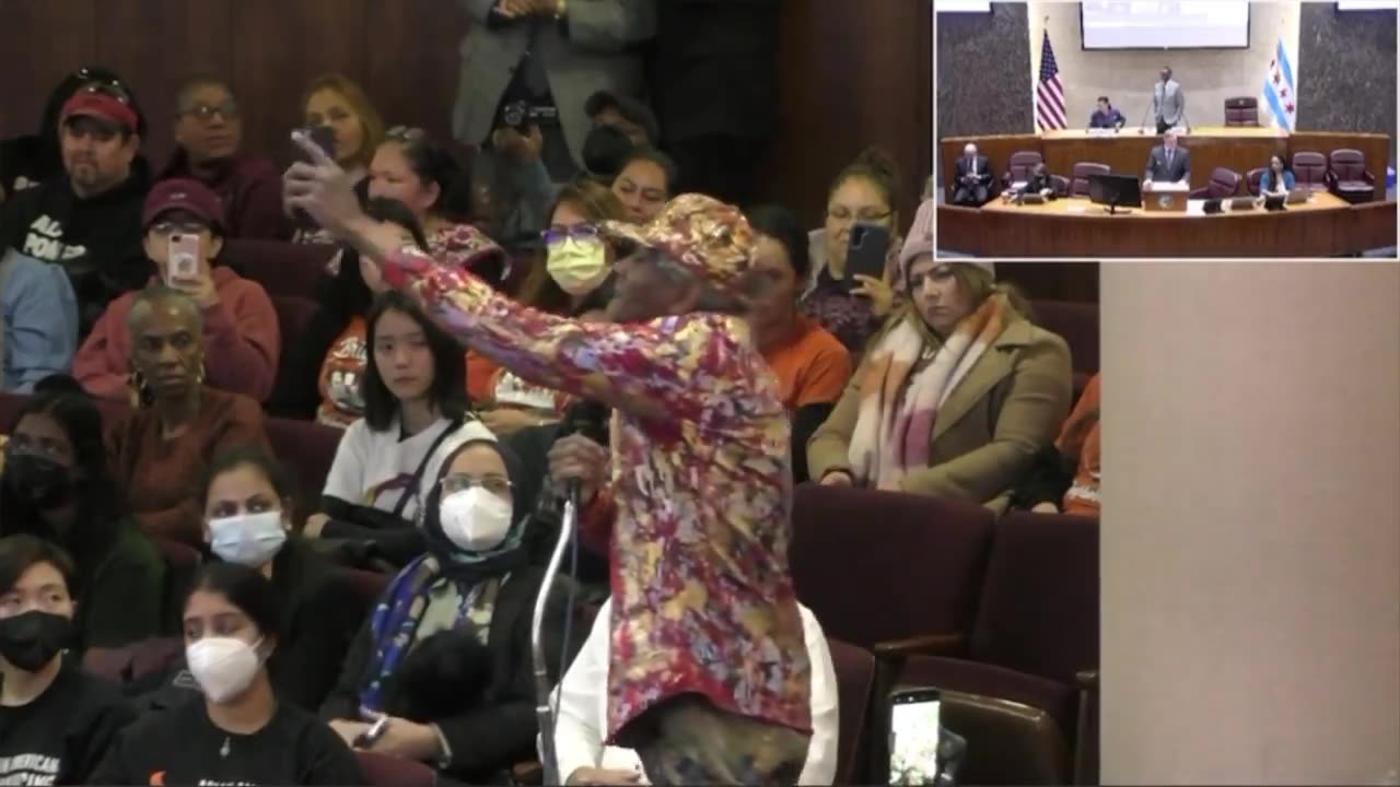
[[[826,634],[816,616],[806,606],[802,612],[802,634],[808,658],[812,661],[812,742],[806,749],[806,765],[798,784],[830,784],[836,779],[836,744],[840,716],[836,693],[836,668],[826,647]],[[554,728],[554,753],[559,756],[559,776],[568,781],[580,767],[636,770],[643,783],[650,784],[641,769],[641,759],[633,749],[603,746],[608,730],[608,639],[612,599],[603,604],[594,619],[584,647],[564,674],[559,692],[559,718]]]

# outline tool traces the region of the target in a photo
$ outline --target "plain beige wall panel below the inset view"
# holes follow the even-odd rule
[[[1102,304],[1103,783],[1400,783],[1400,265]]]

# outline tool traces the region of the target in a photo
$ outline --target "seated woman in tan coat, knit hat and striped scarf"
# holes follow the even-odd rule
[[[935,262],[932,203],[900,253],[910,307],[876,336],[808,443],[811,476],[1004,510],[1070,412],[1070,350],[990,262]]]

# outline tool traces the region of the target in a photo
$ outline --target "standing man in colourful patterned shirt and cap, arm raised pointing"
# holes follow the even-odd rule
[[[400,249],[344,172],[302,147],[314,164],[287,172],[288,204],[473,350],[613,408],[612,742],[637,749],[657,784],[795,783],[812,720],[788,571],[791,430],[743,319],[764,281],[743,216],[682,195],[644,227],[606,223],[633,251],[616,265],[615,322],[585,323]]]

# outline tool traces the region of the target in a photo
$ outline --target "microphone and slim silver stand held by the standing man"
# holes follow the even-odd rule
[[[577,402],[564,412],[564,423],[559,430],[559,437],[582,434],[584,437],[608,444],[609,409],[601,402]],[[556,437],[556,440],[559,440]],[[549,566],[545,569],[545,580],[540,584],[539,598],[535,599],[535,613],[531,619],[529,644],[531,657],[535,662],[535,721],[539,724],[539,755],[545,769],[545,784],[563,784],[559,774],[559,753],[554,751],[554,686],[549,676],[549,660],[545,654],[545,609],[549,605],[550,591],[554,588],[554,578],[559,567],[564,562],[564,549],[574,539],[578,529],[578,511],[582,507],[582,485],[578,479],[568,479],[564,485],[564,515],[559,522],[559,538],[554,541],[554,550],[549,556]],[[574,546],[574,566],[578,564],[578,546]],[[568,606],[573,606],[573,584],[570,585]],[[573,619],[570,615],[568,619]],[[568,653],[568,626],[564,627],[564,641],[561,653]],[[563,660],[560,660],[563,667]]]

